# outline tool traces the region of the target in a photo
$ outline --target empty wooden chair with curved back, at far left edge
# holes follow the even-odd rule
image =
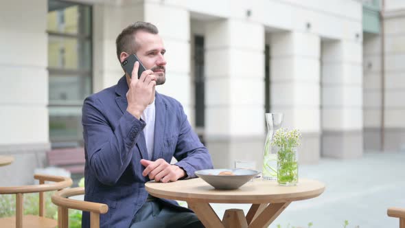
[[[68,177],[44,174],[35,174],[34,179],[39,180],[39,185],[0,187],[0,194],[16,194],[16,216],[0,218],[0,227],[56,227],[56,220],[45,218],[44,192],[62,190],[71,186],[73,182]],[[54,183],[45,184],[45,181],[53,181]],[[39,193],[39,215],[23,216],[24,194],[33,192]]]

